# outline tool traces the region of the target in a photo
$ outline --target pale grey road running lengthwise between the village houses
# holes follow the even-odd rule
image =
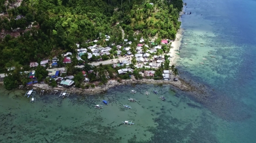
[[[100,65],[101,63],[102,63],[103,65],[105,65],[105,64],[111,64],[111,63],[117,63],[118,60],[123,61],[123,60],[128,60],[128,58],[126,58],[126,57],[121,57],[121,58],[118,58],[118,59],[106,60],[106,61],[101,61],[101,62],[92,62],[92,63],[89,63],[89,64],[94,65],[94,66],[98,66],[98,65]],[[131,58],[130,58],[130,60],[131,60]],[[81,65],[81,66],[75,66],[75,67],[83,68],[84,66]],[[65,68],[51,68],[51,69],[47,69],[47,70],[65,70]],[[32,72],[34,72],[34,70],[33,70]],[[0,74],[0,77],[5,77],[5,74]]]

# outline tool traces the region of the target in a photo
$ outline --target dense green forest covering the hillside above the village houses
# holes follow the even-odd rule
[[[150,4],[150,3],[153,3]],[[142,37],[175,39],[182,0],[0,0],[0,72],[12,62],[29,65],[77,48],[122,44]]]

